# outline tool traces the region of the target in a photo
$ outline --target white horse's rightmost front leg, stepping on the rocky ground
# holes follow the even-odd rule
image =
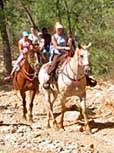
[[[85,124],[85,131],[90,132],[90,126],[88,123],[88,117],[87,117],[87,108],[86,108],[86,98],[80,97],[80,104],[81,104],[81,111],[84,117],[84,124]]]

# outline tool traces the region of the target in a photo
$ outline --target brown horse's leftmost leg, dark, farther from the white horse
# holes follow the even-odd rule
[[[27,108],[26,108],[26,94],[24,91],[20,91],[22,101],[23,101],[23,118],[26,119],[26,114],[27,114]]]

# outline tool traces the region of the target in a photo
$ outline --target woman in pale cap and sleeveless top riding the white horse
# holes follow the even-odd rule
[[[70,47],[67,47],[65,35],[63,34],[63,25],[57,22],[55,24],[55,34],[52,35],[50,54],[51,65],[48,69],[48,75],[50,76],[57,68],[60,61],[64,58],[66,50],[70,51]],[[49,87],[49,82],[44,84],[44,88]]]

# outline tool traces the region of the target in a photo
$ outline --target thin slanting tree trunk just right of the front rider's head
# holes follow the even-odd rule
[[[64,6],[65,6],[65,10],[66,10],[66,15],[67,15],[68,30],[69,30],[69,33],[72,34],[70,13],[69,13],[69,8],[68,8],[67,0],[64,0]]]

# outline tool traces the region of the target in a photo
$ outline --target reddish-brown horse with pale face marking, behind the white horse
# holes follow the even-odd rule
[[[37,73],[40,68],[40,55],[35,51],[29,51],[25,59],[21,62],[20,70],[15,71],[13,75],[13,86],[14,89],[20,91],[23,102],[23,118],[33,121],[32,108],[33,100],[36,92],[38,91],[38,79]],[[26,91],[30,91],[30,104],[29,110],[26,107]],[[28,112],[27,112],[28,111]]]

